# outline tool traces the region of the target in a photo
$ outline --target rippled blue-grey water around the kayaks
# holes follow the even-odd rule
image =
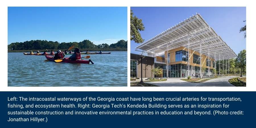
[[[8,86],[127,86],[127,51],[109,52],[90,55],[94,64],[46,62],[42,55],[8,53]]]

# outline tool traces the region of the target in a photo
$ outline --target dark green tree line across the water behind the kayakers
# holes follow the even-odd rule
[[[34,49],[68,49],[75,46],[80,49],[106,49],[106,48],[127,48],[127,41],[119,40],[115,44],[99,44],[95,45],[90,40],[82,42],[62,42],[47,41],[47,40],[30,40],[25,42],[15,42],[8,45],[8,50],[34,50]]]

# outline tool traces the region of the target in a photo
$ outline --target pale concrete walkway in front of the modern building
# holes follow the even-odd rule
[[[228,82],[229,79],[234,77],[221,77],[216,79],[210,79],[201,83],[187,82],[181,80],[181,78],[168,78],[166,81],[159,82],[145,82],[149,84],[154,84],[157,86],[234,86]]]

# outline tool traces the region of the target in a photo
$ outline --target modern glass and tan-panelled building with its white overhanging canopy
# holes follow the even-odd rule
[[[220,19],[221,20],[221,19]],[[168,28],[135,48],[154,57],[154,67],[163,69],[162,77],[185,77],[194,74],[213,75],[218,68],[229,70],[234,51],[222,40],[200,14]],[[219,72],[220,74],[220,72]]]

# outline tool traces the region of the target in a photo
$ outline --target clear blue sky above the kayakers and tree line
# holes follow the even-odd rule
[[[8,44],[127,40],[127,7],[8,7]]]

